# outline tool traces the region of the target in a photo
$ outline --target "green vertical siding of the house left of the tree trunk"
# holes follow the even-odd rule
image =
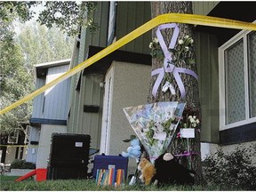
[[[128,4],[129,12],[136,10],[136,15],[129,20],[126,5]],[[118,2],[116,3],[116,39],[123,37],[128,32],[131,32],[135,27],[150,20],[150,4],[144,2]],[[86,28],[81,30],[81,40],[79,48],[75,48],[72,67],[83,62],[87,58],[89,45],[106,47],[108,43],[108,8],[109,2],[98,2],[97,11],[94,12],[94,19],[100,25],[100,29],[92,36]],[[147,10],[147,12],[146,12]],[[125,12],[125,14],[124,14]],[[134,12],[134,13],[135,13]],[[146,14],[143,16],[141,12]],[[132,15],[132,14],[131,14]],[[126,22],[127,28],[122,26]],[[128,25],[129,23],[129,25]],[[119,26],[121,25],[121,26]],[[122,30],[122,31],[120,31]],[[130,30],[130,31],[129,31]],[[149,52],[148,44],[151,34],[148,33],[136,40],[133,45],[123,50],[130,52]],[[74,62],[73,60],[77,60]],[[100,133],[101,133],[101,118],[102,118],[102,102],[103,90],[100,88],[100,82],[104,80],[104,76],[95,74],[76,75],[72,77],[72,95],[70,96],[70,116],[68,118],[68,132],[70,133],[85,133],[92,137],[92,148],[100,148]],[[80,78],[80,80],[79,80]],[[77,84],[79,82],[79,89]],[[99,113],[84,113],[84,105],[97,105],[100,107]]]

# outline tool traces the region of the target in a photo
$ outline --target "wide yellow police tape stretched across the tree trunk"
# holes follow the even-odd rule
[[[12,110],[13,108],[17,108],[22,103],[33,99],[37,95],[51,88],[53,85],[59,84],[60,82],[64,81],[70,76],[75,75],[77,72],[83,70],[84,68],[88,68],[94,62],[102,59],[103,57],[107,56],[109,53],[116,51],[120,47],[124,46],[124,44],[131,42],[133,39],[146,33],[148,30],[155,28],[158,25],[161,25],[164,23],[170,23],[170,22],[204,25],[204,26],[211,26],[211,27],[218,27],[218,28],[236,28],[236,29],[256,30],[255,23],[248,23],[248,22],[243,22],[238,20],[227,20],[227,19],[221,19],[221,18],[204,16],[204,15],[196,15],[196,14],[181,14],[181,13],[162,14],[152,20],[149,20],[147,23],[140,26],[140,28],[136,28],[131,33],[119,39],[115,43],[110,44],[107,48],[93,55],[88,60],[84,60],[75,68],[71,68],[62,76],[52,80],[52,82],[45,84],[43,87],[36,90],[35,92],[28,94],[23,99],[18,100],[14,102],[12,105],[4,108],[3,110],[0,111],[0,115],[6,113],[9,110]]]

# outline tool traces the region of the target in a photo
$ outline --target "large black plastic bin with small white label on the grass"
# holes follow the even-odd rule
[[[91,137],[52,133],[47,180],[86,179]]]

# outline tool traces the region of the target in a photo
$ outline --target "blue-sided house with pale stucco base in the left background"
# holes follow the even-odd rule
[[[69,68],[69,60],[53,61],[36,65],[36,88],[58,78]],[[28,162],[36,163],[37,168],[46,168],[52,132],[67,132],[68,100],[70,78],[52,86],[36,97],[33,113],[29,120]],[[35,142],[39,141],[38,146]]]

